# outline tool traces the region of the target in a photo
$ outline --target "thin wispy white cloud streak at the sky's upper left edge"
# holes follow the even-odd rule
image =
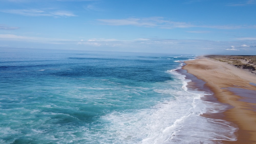
[[[23,16],[53,16],[53,17],[76,16],[71,12],[58,11],[58,10],[52,10],[52,9],[9,9],[9,10],[1,10],[1,12],[18,14]]]

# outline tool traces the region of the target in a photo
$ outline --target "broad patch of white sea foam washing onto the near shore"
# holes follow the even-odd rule
[[[150,109],[133,112],[113,112],[102,117],[110,122],[108,132],[115,135],[115,141],[121,143],[216,143],[220,140],[235,141],[238,128],[232,123],[200,116],[203,113],[218,113],[223,109],[218,103],[208,104],[202,96],[211,95],[199,91],[187,91],[184,75],[169,71],[178,78],[170,82],[173,88],[155,90],[157,93],[172,95]],[[183,88],[178,86],[183,81]],[[167,82],[168,83],[168,82]],[[213,141],[215,140],[215,141]]]

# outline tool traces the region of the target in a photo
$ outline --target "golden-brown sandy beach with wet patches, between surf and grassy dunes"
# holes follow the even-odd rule
[[[237,141],[222,142],[256,143],[256,74],[207,57],[185,63],[183,69],[204,81],[204,86],[214,93],[214,98],[208,100],[230,105],[224,113],[202,115],[221,118],[238,126]],[[196,83],[198,80],[192,80],[190,85]]]

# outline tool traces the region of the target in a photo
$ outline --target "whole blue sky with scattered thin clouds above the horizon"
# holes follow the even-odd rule
[[[256,0],[0,0],[0,49],[256,55]]]

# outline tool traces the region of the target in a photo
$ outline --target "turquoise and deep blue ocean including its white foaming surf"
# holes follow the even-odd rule
[[[0,143],[221,143],[232,123],[202,117],[177,72],[195,55],[34,49],[0,51]]]

